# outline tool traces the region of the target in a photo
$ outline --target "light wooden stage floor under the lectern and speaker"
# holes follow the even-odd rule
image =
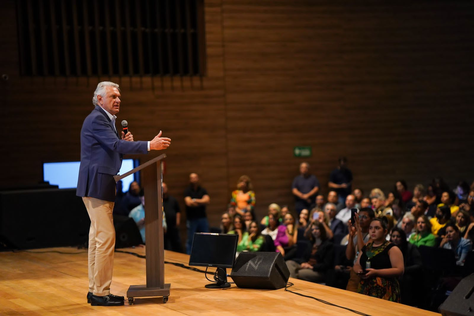
[[[145,254],[144,248],[121,249]],[[58,253],[65,252],[64,253]],[[165,261],[184,263],[189,256],[165,251]],[[74,248],[0,252],[0,315],[357,315],[284,289],[207,289],[204,273],[165,264],[165,282],[171,283],[169,300],[136,298],[129,306],[92,307],[86,302],[87,252]],[[202,269],[202,267],[196,267]],[[213,270],[212,270],[213,271]],[[230,273],[230,270],[228,270]],[[211,278],[211,276],[209,276]],[[230,280],[229,280],[230,281]],[[422,309],[367,297],[345,290],[290,279],[290,288],[339,306],[376,315],[440,315]],[[111,292],[126,295],[130,284],[145,283],[145,260],[115,253]]]

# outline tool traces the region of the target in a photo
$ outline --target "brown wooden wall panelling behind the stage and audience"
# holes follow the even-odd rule
[[[19,77],[15,1],[0,9],[0,73],[10,77],[0,81],[3,179],[33,183],[42,161],[79,159],[92,92],[109,78]],[[118,120],[135,139],[159,130],[173,139],[164,179],[182,210],[191,172],[210,192],[218,226],[242,174],[253,179],[263,216],[272,202],[292,204],[303,160],[327,193],[341,155],[366,192],[387,191],[400,177],[411,187],[438,175],[452,186],[474,179],[470,1],[206,0],[204,10],[202,81],[172,90],[179,80],[170,77],[155,89],[149,77],[143,86],[111,78],[121,81]],[[294,158],[294,146],[311,146],[313,156]]]

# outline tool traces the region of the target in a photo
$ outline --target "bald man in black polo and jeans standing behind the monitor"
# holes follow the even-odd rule
[[[196,173],[189,175],[189,186],[184,190],[184,203],[186,204],[186,227],[188,240],[186,253],[191,254],[192,238],[195,232],[209,232],[209,223],[206,216],[206,205],[210,197],[205,188],[200,186]]]

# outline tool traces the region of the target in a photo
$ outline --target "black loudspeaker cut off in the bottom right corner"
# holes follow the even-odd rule
[[[474,315],[474,273],[459,282],[439,311],[443,316]]]

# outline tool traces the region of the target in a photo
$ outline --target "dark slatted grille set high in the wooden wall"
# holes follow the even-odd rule
[[[202,76],[202,1],[18,0],[20,74]]]

